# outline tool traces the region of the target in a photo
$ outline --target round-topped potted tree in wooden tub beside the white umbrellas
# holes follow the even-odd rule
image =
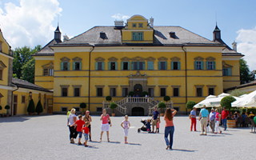
[[[236,101],[234,97],[226,96],[225,98],[222,98],[221,106],[222,107],[226,106],[226,110],[229,110],[230,112],[231,102],[234,102],[234,101]],[[226,121],[226,126],[229,128],[234,128],[236,126],[236,120],[231,120],[231,118],[229,117],[229,119]]]

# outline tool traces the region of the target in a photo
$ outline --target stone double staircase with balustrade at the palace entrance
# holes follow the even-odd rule
[[[116,102],[118,104],[118,107],[116,108],[115,114],[117,115],[126,115],[126,114],[132,114],[132,109],[134,107],[142,107],[146,112],[145,115],[152,115],[152,112],[154,110],[154,106],[158,106],[158,102],[155,101],[153,98],[149,97],[126,97],[122,100]],[[102,102],[102,109],[109,109],[110,102]],[[173,102],[167,102],[166,106],[172,107]]]

